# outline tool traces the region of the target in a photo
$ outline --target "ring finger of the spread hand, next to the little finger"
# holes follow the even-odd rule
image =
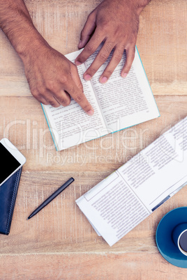
[[[110,63],[108,63],[103,74],[100,76],[99,79],[100,83],[105,84],[107,82],[107,80],[114,72],[114,69],[121,61],[123,54],[124,54],[124,47],[117,47],[116,49],[114,49],[114,53],[112,54],[112,59],[110,60]]]

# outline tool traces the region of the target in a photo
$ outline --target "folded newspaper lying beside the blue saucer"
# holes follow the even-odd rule
[[[110,246],[187,182],[187,117],[77,199]]]

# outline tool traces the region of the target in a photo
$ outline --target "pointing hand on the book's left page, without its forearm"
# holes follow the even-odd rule
[[[70,96],[92,115],[93,108],[83,93],[77,66],[47,44],[37,45],[22,57],[31,93],[39,102],[59,107],[70,104]]]

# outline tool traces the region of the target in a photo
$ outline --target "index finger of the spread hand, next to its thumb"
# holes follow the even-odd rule
[[[93,33],[93,36],[87,43],[86,47],[84,47],[81,54],[77,56],[77,59],[75,59],[75,64],[80,65],[86,61],[93,52],[96,52],[96,49],[100,45],[101,42],[105,39],[105,34],[100,33],[98,31],[98,28],[96,28],[95,32]]]

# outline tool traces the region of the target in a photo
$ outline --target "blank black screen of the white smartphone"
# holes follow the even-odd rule
[[[6,148],[0,143],[0,162],[1,162],[1,169],[0,169],[0,184],[8,176],[10,176],[15,169],[21,166],[20,162],[18,162],[13,155],[6,150]]]

